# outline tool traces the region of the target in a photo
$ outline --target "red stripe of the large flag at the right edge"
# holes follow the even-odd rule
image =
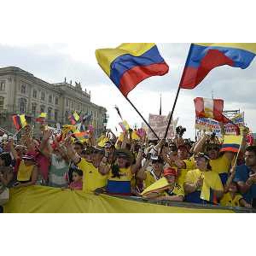
[[[207,74],[215,67],[222,65],[233,66],[233,61],[219,50],[210,49],[204,58],[201,60],[201,65],[198,68],[185,67],[180,81],[180,87],[183,89],[193,89]]]

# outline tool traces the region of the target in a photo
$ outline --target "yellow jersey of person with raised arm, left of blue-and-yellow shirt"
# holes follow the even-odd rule
[[[83,191],[93,192],[97,188],[106,186],[108,175],[101,175],[98,169],[90,162],[81,158],[78,168],[83,172]]]

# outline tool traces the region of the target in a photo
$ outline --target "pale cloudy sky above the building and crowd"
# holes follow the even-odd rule
[[[116,47],[120,43],[70,42],[54,44],[0,44],[0,67],[20,67],[34,76],[50,83],[81,81],[82,87],[91,90],[92,102],[102,105],[110,116],[108,127],[118,127],[117,105],[122,116],[133,126],[141,125],[140,116],[133,110],[122,94],[102,72],[96,62],[94,51],[97,48]],[[149,113],[157,114],[162,93],[163,114],[172,109],[177,86],[189,50],[189,43],[157,43],[161,55],[169,64],[169,73],[162,77],[152,77],[141,82],[129,98],[148,119]],[[247,125],[256,128],[254,95],[256,95],[256,61],[249,68],[241,70],[228,66],[218,67],[194,90],[182,90],[177,102],[174,117],[179,124],[188,128],[186,137],[194,137],[195,109],[193,99],[197,96],[224,99],[225,110],[245,111]]]

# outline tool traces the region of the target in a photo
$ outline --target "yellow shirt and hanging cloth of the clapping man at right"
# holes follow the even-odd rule
[[[190,170],[185,177],[185,183],[195,184],[200,178],[202,178],[203,186],[202,188],[198,188],[197,191],[201,191],[201,199],[210,200],[210,189],[223,191],[223,186],[221,183],[221,179],[216,172],[207,171],[203,172],[199,169]]]

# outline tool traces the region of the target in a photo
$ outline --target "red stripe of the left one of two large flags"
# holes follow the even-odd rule
[[[148,66],[137,66],[126,71],[120,79],[119,90],[126,97],[137,84],[150,76],[163,76],[169,71],[168,65],[163,63]]]

